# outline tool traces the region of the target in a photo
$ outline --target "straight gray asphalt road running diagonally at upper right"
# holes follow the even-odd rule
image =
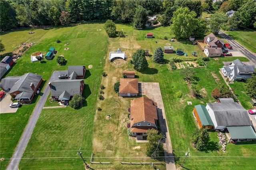
[[[245,47],[243,47],[241,44],[239,44],[238,42],[236,42],[234,39],[232,39],[229,35],[227,35],[226,33],[219,31],[219,35],[226,39],[226,41],[228,41],[228,43],[230,43],[230,45],[233,48],[236,48],[238,51],[240,51],[246,58],[248,58],[250,61],[252,61],[254,63],[254,65],[256,65],[256,54],[250,52],[248,49],[246,49]],[[229,50],[228,50],[229,51]]]

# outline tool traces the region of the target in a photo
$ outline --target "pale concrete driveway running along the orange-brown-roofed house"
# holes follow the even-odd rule
[[[172,154],[172,143],[171,143],[170,133],[168,130],[168,124],[166,122],[166,115],[164,111],[164,104],[162,100],[159,83],[140,82],[139,93],[147,96],[148,98],[152,99],[154,102],[157,103],[158,121],[159,121],[162,133],[166,136],[165,143],[164,143],[164,156],[165,156],[166,170],[176,170],[175,161]]]

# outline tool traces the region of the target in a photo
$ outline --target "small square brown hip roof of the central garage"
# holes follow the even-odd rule
[[[120,78],[119,93],[139,93],[138,78]]]

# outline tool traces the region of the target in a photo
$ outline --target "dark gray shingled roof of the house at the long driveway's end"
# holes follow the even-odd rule
[[[68,92],[70,96],[74,96],[74,94],[80,94],[80,82],[83,81],[81,79],[75,80],[66,80],[60,79],[51,82],[51,96],[60,96],[64,91]]]

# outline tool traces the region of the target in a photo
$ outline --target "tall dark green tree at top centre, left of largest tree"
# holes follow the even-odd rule
[[[138,30],[143,29],[147,23],[147,16],[147,10],[142,6],[138,6],[133,18],[133,28]]]

